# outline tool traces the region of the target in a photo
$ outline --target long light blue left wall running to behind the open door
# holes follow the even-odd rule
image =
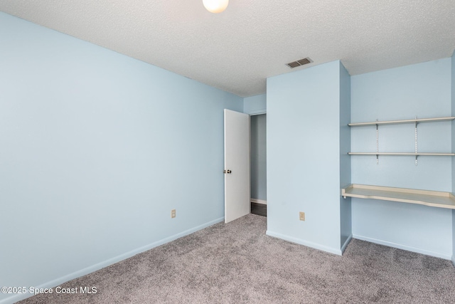
[[[242,98],[3,13],[0,46],[0,286],[223,220],[223,108]]]

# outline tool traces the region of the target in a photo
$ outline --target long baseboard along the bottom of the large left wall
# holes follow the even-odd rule
[[[142,253],[144,251],[150,250],[151,248],[155,248],[157,246],[163,245],[165,243],[168,243],[170,241],[174,241],[176,239],[180,239],[182,236],[187,236],[188,234],[192,234],[193,232],[199,231],[200,229],[207,228],[208,226],[212,226],[214,224],[220,223],[221,221],[224,221],[225,218],[220,217],[219,219],[215,219],[213,221],[209,221],[208,223],[193,227],[191,229],[188,229],[186,231],[182,231],[179,234],[174,234],[173,236],[169,236],[166,239],[161,239],[159,241],[156,241],[154,243],[150,243],[149,245],[142,246],[140,248],[134,249],[132,251],[129,251],[127,253],[123,253],[119,256],[115,256],[114,258],[109,258],[106,261],[102,261],[100,263],[96,263],[95,265],[89,266],[87,268],[83,268],[79,271],[75,271],[73,273],[70,273],[66,276],[62,276],[60,278],[56,278],[55,280],[48,281],[46,283],[43,283],[38,286],[33,286],[35,288],[54,288],[60,284],[63,284],[65,282],[74,280],[75,278],[80,278],[81,276],[85,276],[89,273],[92,273],[94,271],[98,271],[101,268],[105,268],[109,265],[112,265],[114,263],[118,263],[119,261],[123,261],[127,258],[131,258],[132,256],[136,256],[138,253]],[[30,293],[23,293],[23,294],[17,294],[17,295],[12,295],[9,298],[5,298],[3,300],[0,300],[0,304],[13,304],[16,303],[19,300],[23,300],[26,298],[31,297],[32,295]]]

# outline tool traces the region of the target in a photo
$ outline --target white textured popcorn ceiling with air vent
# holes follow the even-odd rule
[[[0,11],[247,97],[291,61],[350,75],[451,56],[455,0],[0,0]]]

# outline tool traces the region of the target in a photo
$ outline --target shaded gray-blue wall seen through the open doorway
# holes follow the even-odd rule
[[[251,198],[267,201],[267,117],[250,117]]]

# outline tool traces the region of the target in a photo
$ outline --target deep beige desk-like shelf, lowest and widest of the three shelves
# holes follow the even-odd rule
[[[341,189],[341,196],[345,199],[350,196],[358,199],[382,199],[384,201],[400,201],[402,203],[455,209],[455,196],[450,192],[350,184]]]

